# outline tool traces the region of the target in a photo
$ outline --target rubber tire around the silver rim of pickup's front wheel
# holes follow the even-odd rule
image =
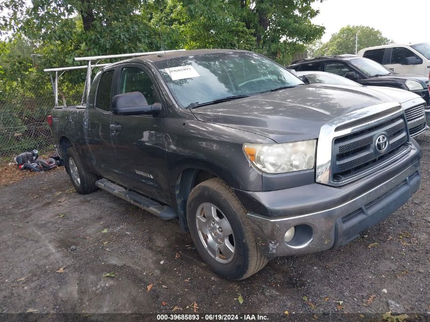
[[[233,231],[235,254],[232,261],[226,264],[216,261],[209,254],[199,236],[197,210],[202,203],[207,202],[222,212]],[[267,257],[256,244],[245,209],[233,190],[222,180],[214,178],[204,181],[191,191],[187,201],[187,220],[198,253],[216,274],[230,280],[241,280],[266,266]]]

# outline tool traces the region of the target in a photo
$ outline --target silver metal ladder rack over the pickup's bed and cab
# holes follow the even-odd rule
[[[126,58],[126,57],[137,57],[137,56],[146,56],[146,55],[153,55],[153,54],[163,54],[165,52],[172,52],[172,51],[184,51],[185,49],[177,49],[177,50],[159,50],[159,51],[148,51],[148,52],[133,52],[133,53],[126,53],[126,54],[116,54],[116,55],[101,55],[101,56],[88,56],[88,57],[75,57],[76,62],[87,62],[87,66],[70,66],[70,67],[59,67],[59,68],[46,68],[43,71],[49,73],[49,76],[51,78],[51,85],[52,90],[54,92],[54,98],[55,98],[55,107],[58,107],[58,80],[59,78],[68,70],[76,70],[76,69],[87,69],[87,78],[85,79],[85,88],[82,93],[82,100],[81,104],[83,105],[84,98],[89,97],[90,95],[90,89],[91,89],[91,75],[93,68],[95,67],[104,67],[111,65],[112,63],[106,63],[106,64],[98,64],[101,60],[104,59],[110,59],[110,58]],[[92,61],[98,61],[97,64],[92,65]],[[59,75],[59,72],[62,72]],[[55,78],[52,77],[52,73],[55,73]]]

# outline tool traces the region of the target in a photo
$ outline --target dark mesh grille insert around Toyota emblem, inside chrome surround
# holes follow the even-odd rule
[[[380,153],[377,138],[384,134],[388,147]],[[336,137],[333,141],[332,181],[341,183],[388,161],[408,149],[408,130],[403,115],[367,129]]]

